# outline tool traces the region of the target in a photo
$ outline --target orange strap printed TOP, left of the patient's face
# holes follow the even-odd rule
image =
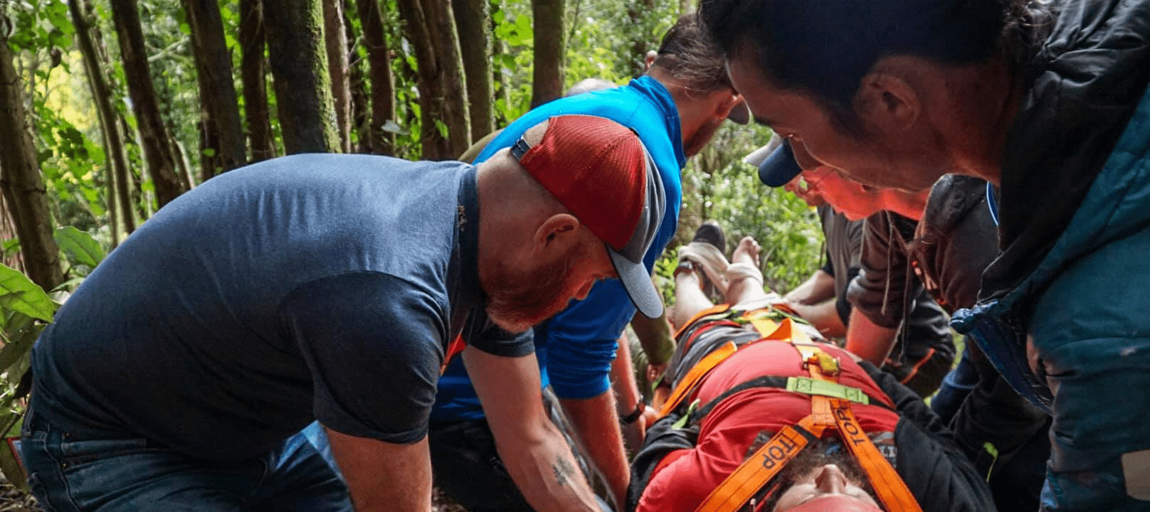
[[[813,414],[803,418],[797,427],[807,430],[815,439],[826,428],[815,424]],[[696,512],[731,512],[742,509],[810,443],[810,439],[796,427],[783,427],[711,491]]]

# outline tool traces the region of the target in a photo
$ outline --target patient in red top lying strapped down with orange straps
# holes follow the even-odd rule
[[[758,254],[744,238],[731,256],[730,305],[714,307],[690,266],[676,273],[675,317],[693,318],[678,326],[674,391],[635,457],[627,510],[994,511],[921,398],[770,309]]]

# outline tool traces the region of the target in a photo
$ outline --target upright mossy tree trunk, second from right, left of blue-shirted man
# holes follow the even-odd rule
[[[468,111],[471,140],[480,140],[494,130],[491,116],[491,32],[488,0],[452,0],[459,48],[467,78]]]

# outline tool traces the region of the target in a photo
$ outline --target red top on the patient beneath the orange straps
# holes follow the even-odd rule
[[[838,359],[838,383],[859,388],[887,406],[894,403],[843,350],[823,346]],[[723,391],[759,377],[810,377],[802,366],[798,350],[790,343],[765,341],[743,347],[707,374],[693,397],[707,404]],[[852,408],[865,432],[894,432],[898,414],[877,405]],[[639,499],[637,512],[693,512],[746,458],[746,451],[760,430],[777,432],[796,425],[811,413],[807,395],[779,388],[756,387],[736,393],[716,405],[699,426],[698,443],[692,449],[666,456],[652,473]],[[828,429],[823,437],[837,435]]]

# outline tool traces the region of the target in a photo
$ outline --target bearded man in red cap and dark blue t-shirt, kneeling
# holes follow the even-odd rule
[[[524,332],[605,278],[661,313],[642,263],[666,201],[656,172],[627,127],[561,116],[478,166],[296,155],[208,180],[38,340],[33,492],[56,511],[427,511],[428,413],[466,343],[528,499],[598,510]],[[293,436],[315,419],[346,487]]]

